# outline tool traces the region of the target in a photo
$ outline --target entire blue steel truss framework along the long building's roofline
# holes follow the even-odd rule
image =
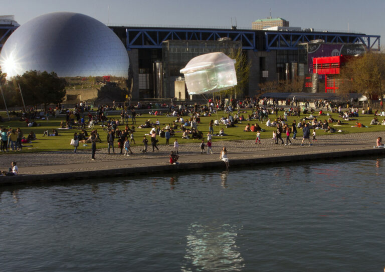
[[[325,43],[363,44],[370,50],[379,51],[380,49],[380,36],[356,33],[127,27],[125,27],[125,32],[127,50],[134,48],[160,49],[162,42],[167,40],[218,41],[221,38],[241,41],[243,49],[254,51],[297,50],[299,44],[310,43],[313,40],[323,40]]]

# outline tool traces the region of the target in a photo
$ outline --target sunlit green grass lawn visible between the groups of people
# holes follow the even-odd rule
[[[250,112],[251,112],[251,110],[247,110],[247,113],[241,113],[241,114],[243,114],[245,117],[247,117],[247,115]],[[283,113],[284,113],[283,111],[280,111],[279,115],[283,116]],[[206,135],[209,132],[210,120],[212,120],[212,119],[215,120],[216,118],[219,119],[225,115],[226,115],[225,113],[219,112],[218,117],[217,117],[217,114],[215,114],[211,117],[201,117],[201,124],[198,125],[198,129],[204,133],[205,142],[207,141]],[[301,115],[301,118],[303,118],[304,116],[308,117],[309,115],[310,114]],[[331,114],[331,115],[334,119],[342,121],[341,118],[338,118],[338,114]],[[7,115],[4,112],[2,112],[2,117],[4,120],[7,119]],[[109,115],[108,117],[120,120],[120,116],[118,116],[118,115]],[[183,117],[183,118],[186,118],[186,117]],[[270,118],[272,120],[275,119],[275,114],[270,115]],[[324,119],[327,120],[327,118],[328,118],[328,116],[319,116],[317,118],[317,120],[323,121]],[[151,122],[153,122],[153,123],[155,123],[155,120],[158,119],[160,121],[159,127],[163,128],[166,124],[172,124],[172,121],[174,121],[176,118],[175,117],[165,117],[165,116],[156,116],[155,117],[153,115],[150,116],[148,114],[143,114],[142,117],[136,117],[136,127],[138,127],[140,124],[144,124],[145,120],[147,120],[147,119],[151,119]],[[339,129],[342,130],[341,133],[385,131],[385,126],[381,126],[381,125],[371,125],[370,126],[369,125],[370,121],[373,119],[373,115],[361,115],[357,119],[358,119],[358,122],[360,122],[363,125],[366,125],[368,127],[367,128],[365,128],[365,127],[363,127],[363,128],[351,127],[351,126],[355,125],[355,121],[349,121],[349,122],[343,121],[343,123],[347,123],[347,124],[341,125],[338,127],[334,127],[334,128],[337,130],[339,130]],[[385,118],[381,118],[381,117],[378,118],[378,120],[380,122],[382,121],[382,119],[385,119]],[[48,130],[51,133],[54,128],[58,129],[60,127],[60,122],[62,120],[65,120],[65,117],[50,118],[49,121],[37,120],[37,123],[40,123],[41,126],[40,127],[32,127],[32,128],[27,127],[26,122],[13,121],[13,120],[0,123],[0,126],[5,127],[5,128],[11,127],[11,128],[15,128],[15,129],[20,128],[23,131],[25,136],[27,136],[30,131],[34,131],[36,133],[36,137],[38,140],[33,141],[31,144],[24,144],[24,145],[27,145],[27,147],[23,148],[23,152],[46,152],[46,151],[72,150],[73,146],[70,145],[70,141],[71,141],[75,132],[80,132],[80,130],[77,128],[76,129],[68,129],[68,130],[66,130],[66,129],[58,130],[59,137],[47,137],[47,136],[43,137],[43,132],[45,130]],[[294,117],[294,116],[288,117],[287,123],[289,125],[291,125],[293,120],[296,120],[298,123],[299,118]],[[130,119],[130,121],[131,121],[131,119]],[[219,130],[221,128],[224,128],[225,133],[228,134],[228,136],[224,136],[224,137],[215,137],[214,136],[213,142],[221,141],[221,140],[236,141],[236,140],[255,139],[255,137],[256,137],[255,132],[244,132],[243,131],[245,129],[245,126],[247,123],[250,123],[250,125],[252,125],[255,122],[256,122],[255,120],[253,120],[251,122],[243,121],[241,124],[237,124],[236,127],[233,127],[233,128],[226,128],[224,125],[220,125],[219,127],[214,126],[214,133],[219,133]],[[131,124],[131,122],[130,122],[130,124]],[[333,125],[335,125],[335,124],[336,123],[330,123],[329,125],[331,127],[333,127]],[[274,128],[266,127],[265,122],[262,122],[262,123],[259,122],[259,125],[263,129],[266,130],[266,132],[261,133],[261,138],[262,139],[271,139],[272,131]],[[95,129],[98,130],[100,138],[102,139],[102,143],[97,143],[97,148],[107,148],[107,142],[106,142],[107,131],[103,130],[103,128],[100,126],[100,124],[96,125]],[[119,129],[124,130],[124,126],[120,125]],[[134,139],[135,139],[136,144],[133,144],[132,146],[141,146],[143,135],[148,134],[149,131],[150,131],[149,128],[146,128],[146,129],[136,128],[136,132],[134,133]],[[87,132],[91,132],[91,129],[87,129]],[[191,143],[191,142],[196,142],[198,144],[201,142],[201,140],[199,140],[199,139],[181,139],[182,132],[180,130],[175,130],[175,132],[176,132],[175,137],[178,139],[179,144]],[[298,129],[297,132],[298,132],[297,137],[300,138],[302,136],[302,130]],[[316,130],[316,132],[317,132],[317,135],[330,134],[330,133],[324,132],[323,130],[320,130],[320,129]],[[338,133],[338,132],[336,132],[336,133]],[[285,135],[283,135],[283,137],[284,136]],[[150,136],[147,136],[148,140],[149,140],[149,137]],[[170,144],[173,143],[175,137],[171,137]],[[160,144],[160,145],[165,144],[164,138],[160,138],[160,137],[157,137],[157,138],[159,140],[158,144]],[[374,139],[373,139],[373,141],[374,141]],[[262,143],[264,143],[264,141],[262,141]],[[265,141],[265,143],[267,143],[267,141]],[[270,143],[270,140],[268,141],[268,143]],[[115,147],[117,147],[117,143],[115,143]],[[82,143],[79,143],[78,150],[90,149],[90,148],[91,148],[90,144],[87,144],[87,146],[83,146]],[[3,154],[5,154],[5,153],[3,153]]]

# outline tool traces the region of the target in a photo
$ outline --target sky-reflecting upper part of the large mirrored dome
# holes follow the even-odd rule
[[[29,70],[60,77],[128,76],[123,43],[101,22],[78,13],[57,12],[19,27],[5,43],[0,66],[8,78]]]

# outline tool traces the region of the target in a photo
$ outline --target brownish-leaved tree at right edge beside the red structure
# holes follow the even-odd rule
[[[366,53],[352,57],[340,70],[339,92],[362,93],[369,103],[374,96],[382,98],[385,81],[385,55]]]

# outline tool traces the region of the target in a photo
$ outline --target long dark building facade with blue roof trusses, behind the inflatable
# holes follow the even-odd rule
[[[227,53],[232,48],[242,47],[251,62],[244,96],[252,97],[260,93],[262,82],[306,77],[313,72],[314,57],[334,56],[336,49],[338,54],[344,51],[357,54],[361,48],[379,50],[380,39],[362,33],[314,31],[128,26],[111,26],[110,29],[123,43],[130,59],[133,100],[174,97],[174,82],[183,78],[179,70],[190,59],[206,53]],[[334,46],[328,47],[332,50],[326,55],[326,47],[314,41]]]

